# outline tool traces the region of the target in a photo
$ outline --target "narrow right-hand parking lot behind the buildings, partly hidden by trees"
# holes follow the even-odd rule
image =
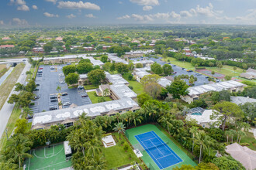
[[[143,59],[143,58],[133,58],[132,60],[137,60],[137,59]],[[154,61],[156,63],[159,63],[161,65],[166,64],[166,62],[161,60],[161,57],[158,57],[158,59],[156,59],[154,57],[150,57],[148,59],[150,59],[150,60],[152,60],[152,61]],[[195,86],[200,86],[200,85],[209,83],[208,78],[206,78],[206,76],[204,76],[204,75],[202,75],[200,73],[187,72],[187,70],[182,70],[182,67],[180,67],[180,66],[173,66],[172,64],[171,64],[171,67],[172,67],[172,70],[174,72],[177,72],[177,73],[174,73],[172,76],[178,76],[178,75],[182,75],[182,74],[189,75],[189,76],[191,76],[191,75],[196,76],[197,77],[197,81],[195,81],[195,83],[194,83]],[[189,80],[187,80],[186,82],[187,82],[187,84],[189,84]]]

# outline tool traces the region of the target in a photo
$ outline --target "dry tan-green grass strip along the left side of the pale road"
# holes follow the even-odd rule
[[[19,79],[20,73],[22,73],[22,70],[24,69],[25,64],[20,63],[18,64],[13,70],[12,73],[6,78],[5,82],[2,83],[0,86],[0,109],[2,109],[2,106],[5,104],[5,100],[7,100],[9,93],[11,93],[12,88],[16,84],[17,80]]]

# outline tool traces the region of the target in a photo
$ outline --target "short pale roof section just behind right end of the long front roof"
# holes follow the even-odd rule
[[[124,84],[115,84],[110,85],[110,89],[116,94],[116,96],[119,97],[119,99],[123,98],[133,98],[137,97],[137,93],[135,93],[133,90],[131,90],[129,87],[127,87]]]

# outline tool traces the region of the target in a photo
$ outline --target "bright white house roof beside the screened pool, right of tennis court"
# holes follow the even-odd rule
[[[189,120],[194,119],[195,121],[197,121],[198,124],[202,124],[202,123],[213,124],[217,120],[210,119],[210,116],[212,114],[213,114],[213,110],[204,110],[204,112],[202,112],[202,115],[188,114],[186,117],[186,120],[189,121]]]

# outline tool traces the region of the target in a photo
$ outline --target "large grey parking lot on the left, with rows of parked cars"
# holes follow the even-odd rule
[[[68,88],[64,82],[64,75],[61,66],[40,66],[36,75],[36,100],[32,102],[30,108],[33,113],[56,110],[70,107],[71,104],[77,106],[92,104],[85,90],[78,88]],[[57,87],[61,90],[57,91]]]

